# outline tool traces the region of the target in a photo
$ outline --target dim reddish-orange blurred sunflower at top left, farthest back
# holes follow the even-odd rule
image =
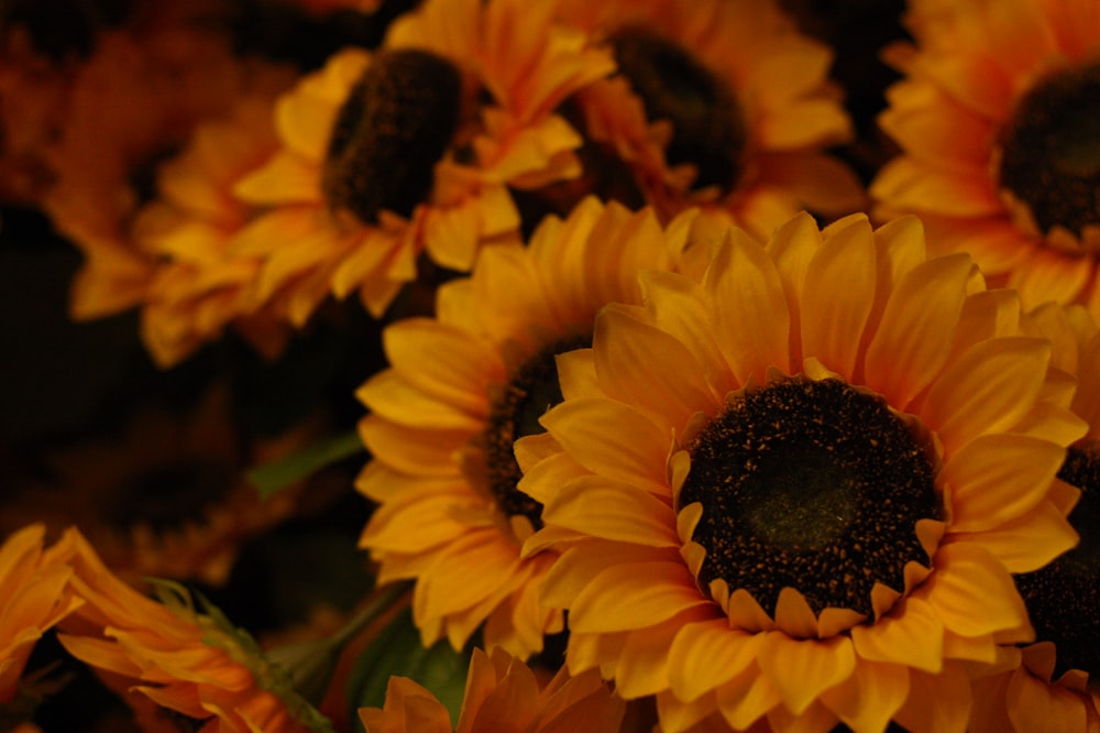
[[[282,84],[283,70],[235,58],[228,34],[204,18],[102,32],[72,78],[62,129],[45,152],[53,179],[43,208],[85,256],[74,318],[113,315],[148,296],[157,258],[131,227],[157,160],[240,95]]]

